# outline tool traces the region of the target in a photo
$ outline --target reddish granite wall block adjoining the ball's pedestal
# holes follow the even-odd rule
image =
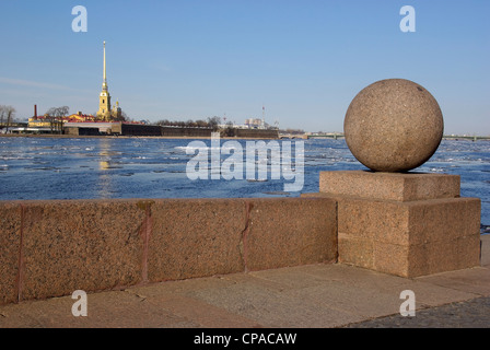
[[[337,260],[335,200],[264,198],[247,203],[244,240],[248,270]]]

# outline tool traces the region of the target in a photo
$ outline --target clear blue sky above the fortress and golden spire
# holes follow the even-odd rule
[[[404,78],[438,100],[445,133],[490,135],[489,15],[488,0],[2,0],[0,104],[95,113],[106,40],[113,103],[136,119],[240,124],[264,105],[281,128],[342,131],[359,91]]]

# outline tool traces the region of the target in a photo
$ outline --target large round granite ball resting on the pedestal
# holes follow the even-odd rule
[[[421,85],[405,79],[377,81],[351,102],[343,121],[347,145],[375,172],[408,172],[438,150],[441,108]]]

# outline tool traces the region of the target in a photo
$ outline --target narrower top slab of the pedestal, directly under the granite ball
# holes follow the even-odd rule
[[[331,196],[411,201],[459,197],[458,175],[374,173],[368,171],[320,172],[319,191]]]

